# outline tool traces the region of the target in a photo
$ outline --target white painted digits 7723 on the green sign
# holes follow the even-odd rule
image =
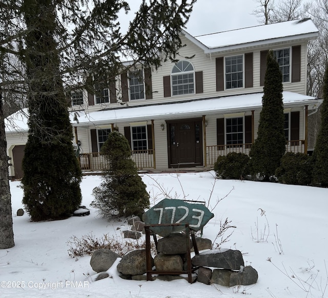
[[[185,214],[183,214],[180,218],[175,219],[175,213],[177,209],[182,209],[185,211]],[[159,211],[159,218],[158,218],[158,224],[162,223],[163,215],[164,218],[168,218],[168,212],[172,212],[171,214],[171,222],[170,223],[180,223],[182,222],[188,215],[189,215],[189,208],[186,206],[177,206],[177,207],[165,207],[165,208],[154,208],[154,211]],[[190,227],[198,228],[200,227],[201,221],[204,216],[204,211],[200,209],[193,208],[191,212],[194,212],[195,215],[192,215],[192,218],[197,220],[196,224],[190,224]],[[180,213],[180,212],[179,212]]]

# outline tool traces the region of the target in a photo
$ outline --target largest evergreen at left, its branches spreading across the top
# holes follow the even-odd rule
[[[33,220],[66,217],[81,199],[67,96],[77,89],[95,91],[99,84],[108,87],[136,64],[158,68],[175,60],[182,46],[181,28],[195,2],[142,1],[124,32],[118,21],[122,11],[130,10],[124,0],[1,1],[5,67],[0,87],[4,97],[20,94],[28,99],[23,188]],[[127,59],[133,61],[129,66],[122,63]],[[86,80],[90,74],[97,81]],[[4,144],[0,146],[6,151]]]

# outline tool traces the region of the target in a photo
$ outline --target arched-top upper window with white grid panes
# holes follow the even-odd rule
[[[195,93],[195,72],[193,65],[186,60],[179,61],[172,68],[172,95]]]

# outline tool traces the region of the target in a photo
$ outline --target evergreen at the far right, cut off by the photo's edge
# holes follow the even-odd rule
[[[323,78],[321,125],[314,147],[313,158],[314,185],[328,187],[328,64]]]

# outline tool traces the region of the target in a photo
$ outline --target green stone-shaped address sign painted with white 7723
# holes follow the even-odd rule
[[[203,228],[208,221],[214,217],[204,204],[191,204],[183,200],[163,199],[154,207],[149,209],[142,216],[145,224],[172,224],[172,223],[189,223],[193,231]],[[160,235],[167,236],[172,232],[184,230],[181,225],[177,226],[156,226],[151,230]]]

